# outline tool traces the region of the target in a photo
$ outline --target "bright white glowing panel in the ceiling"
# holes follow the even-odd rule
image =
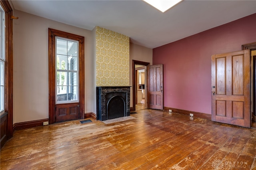
[[[178,4],[182,0],[144,0],[148,4],[154,6],[156,9],[165,12],[166,10],[172,8],[174,5]]]

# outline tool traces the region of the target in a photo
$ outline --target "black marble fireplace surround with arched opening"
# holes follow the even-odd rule
[[[130,116],[130,86],[98,86],[97,120]]]

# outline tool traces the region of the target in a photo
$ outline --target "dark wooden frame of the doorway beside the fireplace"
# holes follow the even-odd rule
[[[135,103],[135,91],[136,91],[136,83],[135,83],[135,65],[144,65],[148,66],[150,63],[144,62],[144,61],[137,61],[137,60],[132,60],[132,109],[131,111],[136,111],[136,103]],[[145,73],[146,74],[146,73]],[[146,82],[146,80],[145,80]],[[147,105],[147,101],[145,101],[145,105]]]

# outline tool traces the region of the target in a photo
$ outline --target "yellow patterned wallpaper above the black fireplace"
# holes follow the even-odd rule
[[[129,86],[130,39],[96,27],[96,86]]]

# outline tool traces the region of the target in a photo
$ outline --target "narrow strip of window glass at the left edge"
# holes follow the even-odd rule
[[[0,48],[1,48],[1,57],[0,57],[0,114],[4,113],[4,88],[5,88],[5,12],[2,7],[0,7]]]

